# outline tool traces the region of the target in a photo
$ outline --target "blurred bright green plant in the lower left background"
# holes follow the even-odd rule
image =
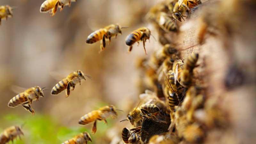
[[[60,144],[84,131],[91,134],[91,130],[86,129],[84,126],[67,127],[59,124],[58,120],[53,119],[51,116],[40,114],[36,116],[4,115],[1,118],[0,132],[3,132],[9,126],[22,124],[24,124],[22,128],[24,136],[21,136],[21,140],[19,138],[15,139],[13,144]],[[104,137],[107,129],[112,125],[111,118],[108,119],[108,124],[99,121],[97,123],[97,132],[95,135],[91,134],[92,142],[88,143],[97,143],[95,142],[97,138]],[[12,142],[9,143],[11,144]]]

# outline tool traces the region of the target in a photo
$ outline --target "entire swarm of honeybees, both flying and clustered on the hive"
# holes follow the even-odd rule
[[[49,12],[55,15],[57,9],[60,11],[64,6],[70,6],[76,0],[46,0],[41,5],[40,12]],[[149,57],[138,60],[137,68],[140,69],[139,89],[144,92],[139,95],[139,102],[132,108],[126,119],[133,128],[124,127],[120,129],[120,141],[127,144],[176,144],[176,143],[203,143],[207,130],[215,127],[223,127],[226,123],[224,114],[219,111],[217,100],[207,97],[209,88],[199,78],[198,69],[202,67],[203,58],[199,52],[192,52],[187,57],[182,57],[182,49],[178,44],[169,41],[165,34],[179,33],[176,21],[183,22],[200,6],[200,0],[164,0],[153,6],[146,18],[154,25],[159,34],[159,43],[162,46]],[[1,19],[12,17],[12,7],[0,6]],[[204,37],[208,32],[210,20],[203,17],[202,27],[199,29],[198,43],[203,44]],[[122,34],[119,24],[111,24],[92,32],[86,39],[87,44],[100,41],[100,52],[106,48],[106,41],[111,42],[111,37]],[[228,28],[226,29],[228,31]],[[132,51],[133,44],[140,41],[143,43],[145,54],[145,42],[149,40],[151,31],[141,27],[130,33],[125,44],[129,46],[128,52]],[[237,77],[234,79],[230,77]],[[81,70],[70,73],[66,78],[59,81],[51,91],[57,95],[66,91],[66,97],[70,91],[75,89],[76,84],[81,85],[81,80],[86,80]],[[226,76],[225,85],[227,89],[243,84],[244,75],[236,67],[231,67]],[[45,87],[34,86],[23,89],[8,103],[8,107],[22,105],[32,115],[35,110],[31,108],[33,101],[44,97]],[[212,102],[213,101],[213,102]],[[116,118],[117,111],[113,105],[101,107],[82,116],[78,124],[92,124],[92,134],[97,131],[97,121],[107,123],[107,118]],[[122,110],[119,110],[122,111]],[[11,126],[0,134],[0,144],[13,141],[23,135],[20,126]],[[62,144],[87,144],[92,142],[88,132],[83,132]]]

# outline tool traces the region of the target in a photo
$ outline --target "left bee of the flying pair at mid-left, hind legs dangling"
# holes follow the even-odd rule
[[[41,88],[39,86],[31,87],[25,90],[24,92],[21,92],[20,94],[13,97],[9,103],[8,107],[14,108],[20,104],[22,104],[22,107],[28,110],[32,115],[35,115],[35,111],[33,108],[31,108],[30,104],[32,104],[33,101],[38,101],[39,97],[44,97],[43,91],[47,90],[44,87]]]

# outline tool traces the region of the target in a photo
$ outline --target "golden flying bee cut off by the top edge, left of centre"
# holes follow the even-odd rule
[[[76,2],[76,0],[46,0],[40,7],[40,12],[45,13],[49,12],[52,14],[51,16],[54,16],[55,13],[58,10],[58,7],[60,7],[60,11],[63,10],[63,7],[68,5],[71,5],[71,2]]]

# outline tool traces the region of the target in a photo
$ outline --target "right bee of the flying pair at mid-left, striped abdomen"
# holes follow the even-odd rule
[[[51,94],[56,95],[66,89],[66,97],[68,97],[70,94],[70,88],[72,87],[73,91],[75,89],[76,83],[79,82],[79,84],[81,85],[81,80],[86,80],[85,76],[91,78],[90,76],[84,75],[81,70],[76,70],[70,73],[66,78],[62,79],[52,88]]]

